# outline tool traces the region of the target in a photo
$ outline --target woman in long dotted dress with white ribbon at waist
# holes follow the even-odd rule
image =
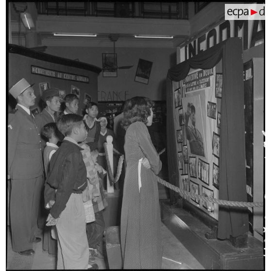
[[[162,265],[156,176],[162,163],[147,129],[152,125],[152,105],[148,98],[134,97],[124,106],[127,167],[120,223],[124,269],[160,269]]]

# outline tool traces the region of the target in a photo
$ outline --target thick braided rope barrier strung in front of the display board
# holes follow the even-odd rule
[[[107,143],[104,143],[104,151],[105,151],[105,157],[106,157],[106,162],[107,162],[107,166],[108,166],[108,171],[109,171],[109,178],[114,180],[114,183],[115,182],[118,182],[119,180],[119,176],[120,176],[120,173],[121,173],[121,169],[122,169],[122,163],[123,163],[123,160],[124,160],[124,155],[121,154],[121,156],[119,157],[119,164],[118,164],[118,169],[117,169],[117,175],[116,175],[116,181],[114,179],[114,176],[113,176],[113,173],[112,173],[112,170],[111,170],[111,166],[110,166],[110,163],[109,163],[109,157],[108,157],[108,153],[107,153],[107,146],[106,146]],[[115,151],[115,149],[114,149]],[[163,152],[166,151],[166,148],[164,148],[161,152],[159,152],[158,154],[161,155]],[[99,155],[101,155],[99,153]],[[122,159],[122,161],[120,162],[120,160]],[[110,177],[111,176],[111,177]],[[117,178],[118,177],[118,178]],[[162,184],[163,186],[166,186],[168,187],[169,189],[179,193],[182,197],[186,196],[186,197],[193,197],[197,200],[202,200],[203,202],[210,202],[210,203],[216,203],[216,204],[219,204],[219,205],[227,205],[227,206],[237,206],[237,207],[263,207],[264,203],[263,202],[255,202],[255,203],[250,203],[250,202],[236,202],[236,201],[226,201],[226,200],[219,200],[219,199],[215,199],[215,198],[211,198],[211,197],[204,197],[204,196],[201,196],[201,195],[198,195],[198,194],[193,194],[191,192],[188,192],[184,189],[181,189],[177,186],[174,186],[174,185],[171,185],[169,182],[161,179],[160,177],[157,176],[157,181],[158,183]]]

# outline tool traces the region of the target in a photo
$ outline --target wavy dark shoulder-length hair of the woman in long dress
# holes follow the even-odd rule
[[[122,127],[126,130],[135,121],[141,121],[146,124],[148,122],[147,118],[151,116],[153,104],[147,97],[136,96],[127,100],[123,108]]]

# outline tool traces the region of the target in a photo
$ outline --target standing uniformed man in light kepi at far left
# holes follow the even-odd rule
[[[24,78],[9,93],[17,100],[8,116],[8,179],[11,178],[10,224],[12,248],[21,255],[34,254],[33,243],[40,191],[43,184],[41,140],[29,107],[34,89]]]

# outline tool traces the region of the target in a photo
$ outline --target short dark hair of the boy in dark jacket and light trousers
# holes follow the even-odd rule
[[[83,121],[83,117],[77,114],[67,114],[57,119],[56,125],[58,130],[65,136],[71,134],[72,129],[76,126],[80,126]]]

